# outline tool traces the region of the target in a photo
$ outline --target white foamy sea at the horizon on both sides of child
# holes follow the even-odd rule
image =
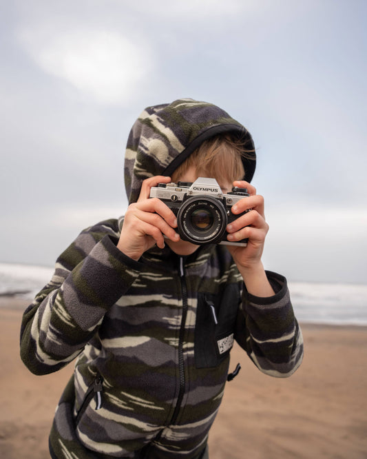
[[[31,301],[52,273],[52,267],[0,263],[0,296]],[[289,290],[300,323],[367,325],[367,285],[290,282]]]

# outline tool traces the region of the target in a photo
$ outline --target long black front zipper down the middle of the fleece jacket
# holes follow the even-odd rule
[[[180,325],[180,336],[178,339],[178,367],[180,371],[180,390],[178,391],[178,399],[174,414],[171,418],[170,424],[175,424],[178,413],[180,412],[180,408],[182,405],[182,399],[185,394],[185,363],[183,357],[183,342],[185,337],[185,325],[186,325],[186,318],[187,318],[187,285],[185,279],[185,270],[183,265],[183,258],[180,257],[180,281],[181,281],[181,292],[182,292],[182,318],[181,318],[181,325]]]

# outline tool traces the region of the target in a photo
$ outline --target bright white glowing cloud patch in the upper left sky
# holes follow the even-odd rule
[[[32,27],[19,41],[45,72],[106,104],[125,102],[151,70],[151,53],[119,32]]]

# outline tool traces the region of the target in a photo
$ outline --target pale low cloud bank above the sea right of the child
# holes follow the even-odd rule
[[[293,281],[366,282],[364,208],[300,206],[266,215],[270,231],[264,258],[271,269]]]

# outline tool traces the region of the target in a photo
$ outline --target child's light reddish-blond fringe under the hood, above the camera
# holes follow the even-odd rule
[[[230,134],[213,136],[204,141],[186,161],[178,166],[171,174],[171,179],[176,183],[187,170],[195,167],[199,177],[211,177],[229,183],[242,180],[244,177],[242,157],[252,159],[252,156],[247,154],[251,151],[253,150],[245,149],[244,141],[235,139]]]

